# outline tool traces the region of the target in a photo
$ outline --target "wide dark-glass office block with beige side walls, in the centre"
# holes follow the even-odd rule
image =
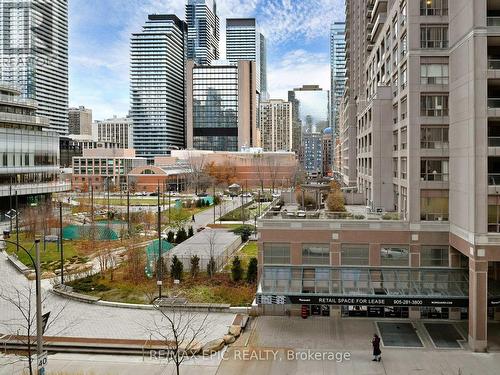
[[[253,61],[187,63],[187,147],[239,151],[258,147]]]

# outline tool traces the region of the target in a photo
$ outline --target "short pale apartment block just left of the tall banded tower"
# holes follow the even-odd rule
[[[132,120],[128,117],[114,116],[111,119],[95,123],[97,141],[110,142],[119,148],[133,148]]]

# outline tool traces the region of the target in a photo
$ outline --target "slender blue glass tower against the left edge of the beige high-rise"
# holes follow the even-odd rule
[[[334,22],[330,29],[330,121],[333,133],[338,130],[338,110],[344,96],[345,69],[345,22]]]

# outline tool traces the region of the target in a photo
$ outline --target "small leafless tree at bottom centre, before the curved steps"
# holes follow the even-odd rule
[[[162,300],[156,300],[155,309],[160,313],[154,317],[151,337],[165,343],[168,348],[166,360],[175,365],[176,374],[180,375],[181,364],[201,351],[201,341],[207,338],[209,324],[208,313],[201,314],[183,310]]]

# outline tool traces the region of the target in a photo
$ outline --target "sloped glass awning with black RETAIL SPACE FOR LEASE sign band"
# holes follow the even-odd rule
[[[265,266],[257,303],[467,307],[468,293],[467,269]]]

